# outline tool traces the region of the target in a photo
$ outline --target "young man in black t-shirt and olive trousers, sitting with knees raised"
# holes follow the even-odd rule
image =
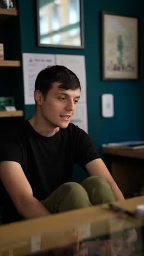
[[[69,124],[80,92],[66,67],[38,74],[35,114],[4,138],[1,150],[3,223],[124,199],[91,138]],[[72,182],[76,163],[91,176],[81,185]]]

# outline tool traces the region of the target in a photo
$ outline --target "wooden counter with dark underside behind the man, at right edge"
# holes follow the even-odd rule
[[[125,198],[140,195],[144,187],[144,149],[103,147],[110,171]]]

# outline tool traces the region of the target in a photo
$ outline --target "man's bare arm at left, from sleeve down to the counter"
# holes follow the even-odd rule
[[[50,214],[33,196],[31,185],[19,163],[14,161],[1,162],[0,179],[23,218],[37,218]]]

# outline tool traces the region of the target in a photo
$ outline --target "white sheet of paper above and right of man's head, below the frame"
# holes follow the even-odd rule
[[[80,80],[81,98],[80,102],[86,102],[86,69],[85,56],[83,55],[56,55],[56,64],[62,65],[73,71]]]

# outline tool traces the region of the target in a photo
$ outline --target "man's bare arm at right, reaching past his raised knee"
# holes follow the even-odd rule
[[[98,158],[91,162],[88,162],[88,164],[85,167],[91,176],[95,175],[106,179],[106,181],[110,184],[110,187],[113,191],[113,195],[115,196],[116,200],[124,200],[124,196],[121,190],[118,188],[116,182],[112,178],[109,170],[105,166],[102,159]]]

